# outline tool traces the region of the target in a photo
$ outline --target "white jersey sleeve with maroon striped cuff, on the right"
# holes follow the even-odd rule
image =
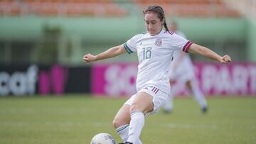
[[[174,34],[172,36],[171,40],[171,45],[176,49],[176,50],[182,50],[183,52],[188,52],[189,47],[193,43],[189,40],[186,40],[186,38],[182,38],[179,35]]]

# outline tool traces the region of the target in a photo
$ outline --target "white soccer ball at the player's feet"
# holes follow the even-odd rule
[[[95,135],[90,144],[116,144],[114,137],[108,133],[98,133]]]

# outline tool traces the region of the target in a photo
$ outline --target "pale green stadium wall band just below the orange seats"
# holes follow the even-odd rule
[[[242,18],[176,18],[180,28],[194,40],[213,38],[242,39],[247,35]],[[142,16],[124,18],[65,18],[65,17],[2,17],[1,39],[34,39],[43,33],[44,26],[60,27],[66,35],[82,36],[86,41],[114,43],[145,31]]]

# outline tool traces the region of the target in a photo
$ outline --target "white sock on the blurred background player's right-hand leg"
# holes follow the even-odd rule
[[[206,107],[207,106],[207,102],[206,102],[206,98],[203,95],[203,93],[201,92],[201,90],[196,87],[196,85],[192,85],[193,89],[193,96],[196,99],[196,101],[198,102],[199,106],[201,106],[201,108]]]

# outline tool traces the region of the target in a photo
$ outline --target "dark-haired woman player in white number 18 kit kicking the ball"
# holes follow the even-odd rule
[[[114,128],[123,143],[141,144],[139,136],[146,115],[156,113],[170,94],[169,70],[175,50],[193,52],[221,63],[231,62],[228,55],[221,57],[212,50],[182,38],[168,30],[164,10],[149,6],[144,11],[146,33],[134,35],[126,43],[112,47],[98,55],[84,55],[87,64],[128,52],[137,52],[137,94],[131,96],[114,117]],[[165,30],[162,29],[164,26]]]

